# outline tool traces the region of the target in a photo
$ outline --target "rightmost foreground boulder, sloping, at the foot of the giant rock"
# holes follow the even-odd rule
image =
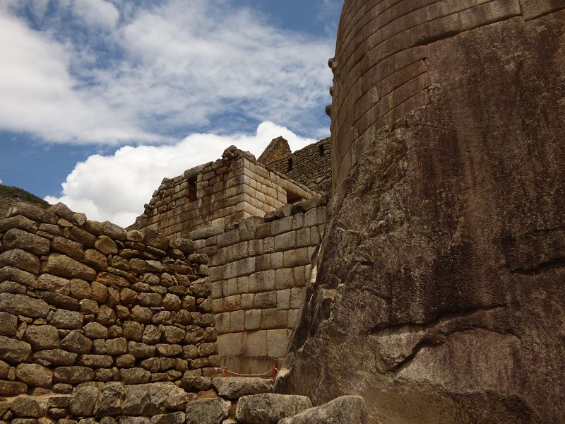
[[[365,424],[369,419],[361,396],[341,396],[316,408],[310,408],[278,424]]]

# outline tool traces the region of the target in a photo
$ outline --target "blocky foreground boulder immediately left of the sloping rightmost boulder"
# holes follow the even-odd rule
[[[244,424],[276,424],[279,420],[312,407],[306,396],[285,394],[254,394],[237,402],[235,419]]]

